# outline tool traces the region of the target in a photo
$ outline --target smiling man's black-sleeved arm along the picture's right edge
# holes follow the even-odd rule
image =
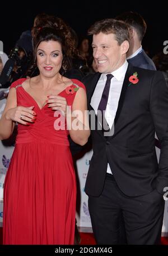
[[[160,71],[153,75],[150,111],[156,135],[161,142],[156,188],[164,194],[164,187],[168,187],[168,88]]]

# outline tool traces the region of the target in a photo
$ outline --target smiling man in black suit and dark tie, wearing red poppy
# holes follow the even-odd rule
[[[165,79],[160,71],[128,64],[129,28],[123,21],[97,21],[88,33],[99,71],[83,80],[88,110],[96,115],[95,128],[90,115],[94,154],[85,186],[95,238],[97,244],[120,243],[124,219],[128,244],[157,244],[168,185]]]

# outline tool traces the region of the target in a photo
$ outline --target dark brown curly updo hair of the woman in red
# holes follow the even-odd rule
[[[34,57],[39,44],[44,41],[57,41],[62,46],[64,69],[71,68],[71,58],[76,50],[76,37],[71,29],[62,19],[52,15],[43,15],[43,19],[38,20],[34,29],[33,45]]]

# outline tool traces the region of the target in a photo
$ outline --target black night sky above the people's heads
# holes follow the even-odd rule
[[[67,2],[68,0],[66,0]],[[152,0],[151,0],[152,1]],[[168,1],[156,4],[147,1],[121,2],[117,0],[43,2],[8,2],[0,5],[0,40],[7,54],[24,30],[31,29],[34,17],[45,12],[64,19],[78,35],[86,34],[89,26],[96,20],[115,17],[124,11],[137,11],[147,23],[147,32],[143,39],[143,48],[152,57],[162,51],[164,41],[168,40]]]

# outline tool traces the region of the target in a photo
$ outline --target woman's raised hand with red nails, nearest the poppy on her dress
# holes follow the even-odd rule
[[[49,95],[48,100],[46,100],[48,107],[51,107],[52,110],[59,110],[66,115],[67,112],[67,100],[64,97],[59,95]]]

